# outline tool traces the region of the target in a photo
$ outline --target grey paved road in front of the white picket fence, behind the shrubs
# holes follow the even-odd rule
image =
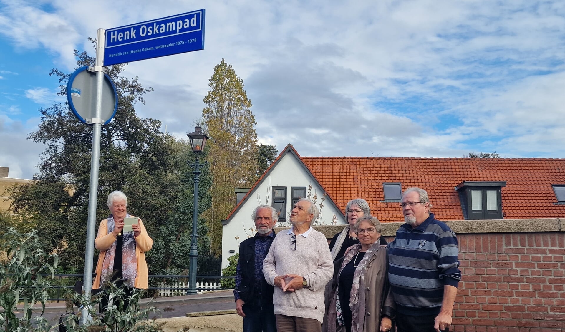
[[[147,303],[149,299],[142,299],[141,302]],[[235,309],[236,304],[233,300],[232,291],[218,291],[198,295],[172,296],[168,298],[157,298],[151,305],[159,312],[151,314],[159,318],[184,317],[188,312],[216,311],[225,309]],[[142,304],[143,306],[143,304]],[[76,307],[74,308],[76,311]],[[165,310],[166,309],[166,310]],[[36,315],[41,313],[41,307]],[[45,308],[43,316],[51,324],[58,324],[59,317],[65,313],[64,302],[49,303]]]

